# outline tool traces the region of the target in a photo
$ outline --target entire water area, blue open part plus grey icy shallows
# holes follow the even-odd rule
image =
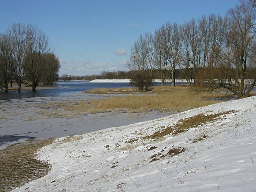
[[[63,137],[124,126],[168,116],[170,112],[104,112],[70,116],[48,115],[56,110],[51,102],[102,99],[110,94],[84,94],[98,88],[130,87],[129,83],[56,82],[50,88],[0,92],[0,150],[27,138]],[[115,95],[119,96],[119,95]],[[120,95],[121,96],[121,95]],[[45,105],[46,104],[46,105]],[[48,105],[47,105],[48,104]],[[58,109],[60,110],[60,109]]]

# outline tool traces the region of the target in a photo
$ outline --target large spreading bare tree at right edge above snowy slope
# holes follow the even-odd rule
[[[226,88],[243,98],[248,96],[256,82],[252,15],[239,6],[231,9],[225,32],[220,68],[226,78],[219,78],[212,85],[213,88]]]

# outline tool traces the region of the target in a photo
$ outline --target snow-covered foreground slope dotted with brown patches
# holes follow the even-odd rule
[[[200,113],[227,111],[186,132],[145,138]],[[38,152],[41,160],[52,164],[52,171],[13,191],[254,191],[255,116],[256,97],[250,97],[60,138]],[[202,140],[195,142],[198,138]],[[168,154],[174,148],[181,153]],[[154,157],[158,160],[152,161]]]

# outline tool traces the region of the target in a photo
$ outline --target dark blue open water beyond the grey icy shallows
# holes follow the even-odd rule
[[[89,81],[59,81],[55,82],[49,88],[38,89],[36,92],[31,90],[10,90],[8,93],[0,91],[0,100],[45,97],[45,96],[63,96],[69,94],[77,94],[84,90],[97,88],[119,88],[130,87],[129,83],[97,83]]]

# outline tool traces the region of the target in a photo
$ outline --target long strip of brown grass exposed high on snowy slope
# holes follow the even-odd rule
[[[192,127],[204,125],[207,122],[218,120],[220,119],[220,116],[229,114],[232,112],[235,112],[235,111],[231,110],[231,111],[219,112],[219,113],[210,114],[210,115],[200,113],[189,118],[181,119],[177,123],[174,123],[172,126],[162,127],[162,130],[154,132],[154,134],[152,135],[145,136],[142,139],[159,140],[169,134],[176,135],[176,134],[185,132]]]

